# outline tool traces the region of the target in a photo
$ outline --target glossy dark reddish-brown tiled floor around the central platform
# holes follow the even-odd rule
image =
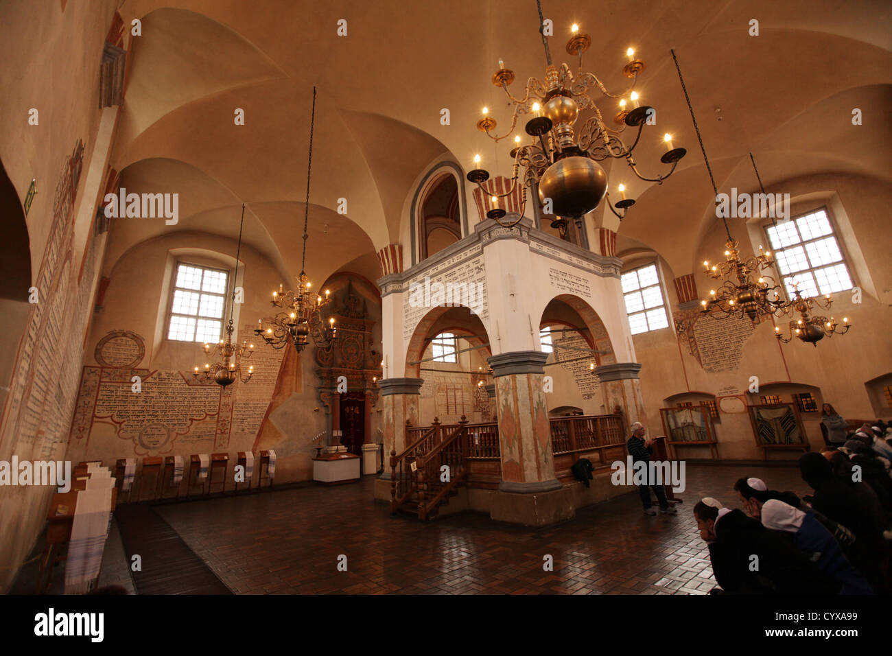
[[[795,468],[691,465],[678,516],[645,516],[633,493],[540,529],[392,517],[371,500],[371,478],[156,511],[235,593],[706,594],[715,584],[691,509],[706,495],[737,506],[741,476],[808,492]]]

